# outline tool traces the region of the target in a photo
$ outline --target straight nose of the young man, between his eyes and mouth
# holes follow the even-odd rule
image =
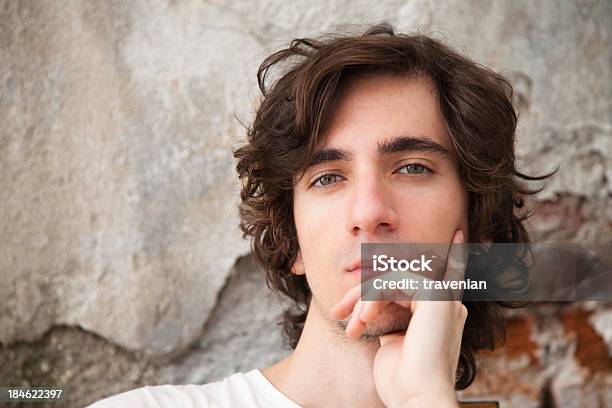
[[[348,200],[347,230],[367,242],[388,236],[397,228],[398,215],[392,191],[376,176],[356,180]]]

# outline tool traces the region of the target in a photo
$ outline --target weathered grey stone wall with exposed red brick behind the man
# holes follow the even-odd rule
[[[287,353],[237,227],[258,63],[381,20],[512,79],[535,237],[612,240],[612,3],[0,1],[0,384],[67,406]],[[356,29],[360,31],[360,29]],[[239,120],[237,120],[239,119]],[[516,312],[467,397],[612,406],[612,309]]]

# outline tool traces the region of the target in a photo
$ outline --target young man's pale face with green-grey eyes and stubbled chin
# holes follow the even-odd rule
[[[294,273],[306,274],[311,307],[331,320],[332,306],[360,282],[359,270],[350,270],[361,243],[450,243],[458,228],[467,237],[468,195],[428,80],[356,79],[324,136],[295,184]],[[409,318],[392,304],[366,338],[405,330]]]

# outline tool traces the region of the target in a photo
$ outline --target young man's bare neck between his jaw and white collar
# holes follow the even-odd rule
[[[346,337],[311,302],[293,353],[262,373],[303,407],[383,407],[373,376],[378,348],[378,342]]]

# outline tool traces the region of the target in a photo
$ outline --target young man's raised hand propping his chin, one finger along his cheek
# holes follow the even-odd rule
[[[464,243],[456,231],[452,243]],[[459,267],[448,267],[445,280],[462,280],[467,254],[463,245],[451,246],[448,260],[459,260]],[[451,256],[452,255],[452,256]],[[334,306],[332,314],[352,316],[346,328],[351,338],[359,337],[389,304],[397,303],[412,314],[406,333],[379,337],[381,347],[374,360],[374,382],[379,397],[389,407],[457,407],[455,373],[461,350],[461,337],[467,309],[460,300],[428,301],[419,292],[406,301],[362,301],[356,288]],[[457,297],[455,297],[457,299]]]

